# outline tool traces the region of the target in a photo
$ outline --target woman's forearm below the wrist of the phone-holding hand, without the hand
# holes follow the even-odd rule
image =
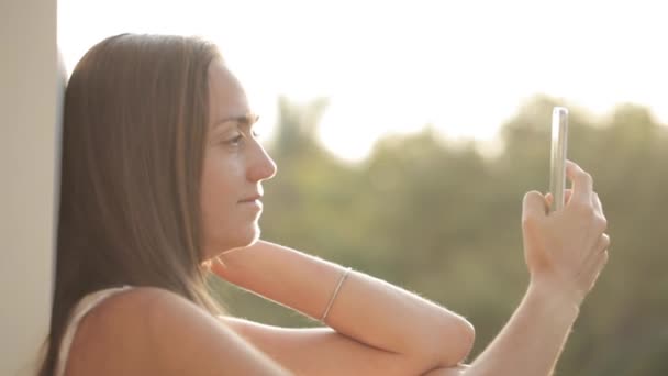
[[[557,289],[530,285],[508,324],[464,375],[552,375],[579,312],[571,301]]]

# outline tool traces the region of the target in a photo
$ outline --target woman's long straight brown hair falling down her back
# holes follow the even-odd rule
[[[67,85],[56,283],[41,376],[68,317],[114,286],[174,291],[212,313],[201,266],[200,180],[209,65],[197,37],[122,34],[93,46]]]

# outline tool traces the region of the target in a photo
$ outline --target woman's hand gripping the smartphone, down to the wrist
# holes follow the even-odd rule
[[[547,213],[552,197],[537,191],[524,196],[524,257],[532,285],[563,294],[579,306],[608,262],[610,237],[591,176],[570,161],[566,175],[572,189],[563,209]]]

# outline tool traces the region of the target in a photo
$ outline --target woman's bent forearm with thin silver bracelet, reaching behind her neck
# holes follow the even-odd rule
[[[320,319],[344,268],[267,242],[222,257],[225,279]],[[350,273],[326,323],[359,342],[415,354],[447,366],[460,362],[472,344],[472,327],[446,309],[382,280]]]

